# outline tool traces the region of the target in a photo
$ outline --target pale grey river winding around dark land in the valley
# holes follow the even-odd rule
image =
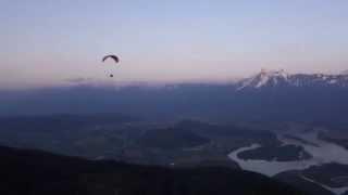
[[[289,139],[286,134],[291,134],[294,136],[300,138],[307,142],[313,143],[308,144],[298,140]],[[273,177],[279,172],[288,170],[302,170],[309,168],[313,165],[322,165],[326,162],[338,162],[348,164],[348,151],[344,147],[318,139],[318,131],[311,132],[276,132],[277,139],[283,142],[283,144],[300,145],[306,152],[312,155],[313,158],[307,160],[296,160],[296,161],[266,161],[266,160],[244,160],[238,158],[237,154],[244,151],[254,150],[260,147],[259,144],[252,144],[247,147],[241,147],[232,152],[228,157],[239,164],[239,166],[249,171],[260,172],[262,174]],[[348,190],[348,187],[330,188],[332,192],[338,194],[343,191]]]

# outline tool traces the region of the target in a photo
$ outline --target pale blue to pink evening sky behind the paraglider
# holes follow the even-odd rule
[[[0,0],[0,88],[348,69],[347,0]],[[101,64],[104,54],[120,66]]]

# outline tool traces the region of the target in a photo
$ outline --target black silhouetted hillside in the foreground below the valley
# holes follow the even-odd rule
[[[0,147],[1,195],[300,194],[258,173],[226,168],[169,169],[91,161]]]

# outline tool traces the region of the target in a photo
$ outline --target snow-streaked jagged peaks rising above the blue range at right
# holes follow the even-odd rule
[[[348,88],[348,75],[288,74],[285,70],[265,70],[237,82],[237,90],[269,87],[339,87]]]

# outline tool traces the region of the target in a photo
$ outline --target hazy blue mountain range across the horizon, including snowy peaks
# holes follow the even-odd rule
[[[347,123],[348,76],[261,70],[233,83],[75,86],[0,92],[0,115],[121,113],[147,119]]]

